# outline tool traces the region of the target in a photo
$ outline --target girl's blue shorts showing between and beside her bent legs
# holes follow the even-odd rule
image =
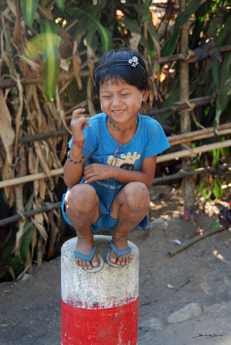
[[[69,225],[73,226],[71,224],[70,220],[67,218],[64,199],[65,199],[65,194],[63,194],[63,203],[61,206],[63,218],[66,220],[66,222]],[[114,228],[114,226],[117,225],[118,221],[119,221],[119,219],[112,218],[109,213],[101,213],[100,212],[98,220],[96,220],[96,222],[90,226],[91,231],[93,231],[94,233],[98,232],[100,229],[113,231],[113,228]],[[147,226],[148,226],[148,217],[146,215],[144,217],[144,219],[137,226],[134,227],[134,229],[144,229]]]

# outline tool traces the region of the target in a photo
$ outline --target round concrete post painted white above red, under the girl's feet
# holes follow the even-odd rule
[[[75,264],[77,241],[73,238],[62,247],[62,345],[137,345],[137,246],[129,241],[131,264],[113,268],[106,263],[111,236],[95,235],[104,267],[90,274]]]

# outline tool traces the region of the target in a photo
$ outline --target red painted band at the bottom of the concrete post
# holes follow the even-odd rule
[[[84,309],[62,299],[62,345],[137,345],[138,302]]]

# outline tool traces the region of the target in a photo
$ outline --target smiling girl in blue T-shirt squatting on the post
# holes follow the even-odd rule
[[[95,89],[103,112],[90,119],[78,118],[82,108],[72,114],[62,204],[78,237],[76,265],[90,273],[103,268],[93,242],[100,228],[112,231],[107,263],[121,268],[131,262],[128,235],[148,225],[156,156],[169,148],[161,126],[139,113],[150,83],[138,52],[120,48],[104,54]]]

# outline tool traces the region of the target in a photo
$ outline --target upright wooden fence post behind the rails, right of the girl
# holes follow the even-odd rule
[[[180,12],[185,9],[185,0],[179,1]],[[186,23],[180,33],[180,53],[188,50],[188,34],[189,27]],[[180,100],[189,99],[189,65],[187,62],[180,61]],[[189,111],[184,111],[180,116],[181,133],[191,132],[191,121]],[[188,142],[191,147],[191,143]],[[184,158],[182,161],[182,169],[192,170],[191,157]],[[183,178],[184,191],[184,207],[190,209],[194,205],[194,186],[193,177],[187,176]]]

